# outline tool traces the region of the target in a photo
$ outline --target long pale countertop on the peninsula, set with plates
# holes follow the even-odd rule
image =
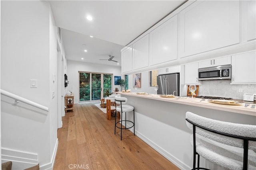
[[[234,113],[241,113],[246,115],[253,115],[256,116],[256,108],[251,108],[253,104],[250,104],[248,107],[244,107],[245,103],[242,103],[240,105],[225,105],[225,104],[215,104],[212,102],[209,102],[207,99],[204,101],[201,101],[200,98],[163,98],[156,94],[136,94],[133,92],[115,92],[117,94],[126,95],[126,96],[134,96],[138,98],[147,98],[152,100],[161,100],[164,102],[172,102],[177,104],[185,104],[190,106],[196,106],[196,107],[204,107],[208,109],[216,109],[216,110],[222,110],[222,111],[229,111]]]

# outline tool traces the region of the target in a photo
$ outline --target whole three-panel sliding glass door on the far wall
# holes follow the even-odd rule
[[[80,102],[100,100],[111,94],[112,74],[79,72],[79,82]]]

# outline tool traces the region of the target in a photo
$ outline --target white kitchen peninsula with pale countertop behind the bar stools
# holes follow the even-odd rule
[[[128,104],[135,108],[135,135],[184,170],[191,169],[193,162],[190,144],[192,131],[185,121],[187,111],[220,121],[256,125],[256,109],[245,108],[244,104],[226,106],[207,100],[200,102],[198,98],[171,99],[151,94],[119,94],[126,97]],[[130,114],[127,114],[127,119],[132,119]],[[206,168],[222,170],[203,158],[200,162]]]

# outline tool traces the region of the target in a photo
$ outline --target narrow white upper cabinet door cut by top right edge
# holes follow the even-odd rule
[[[256,39],[256,1],[247,1],[247,41]]]

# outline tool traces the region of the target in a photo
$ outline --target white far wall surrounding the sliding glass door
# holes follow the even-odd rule
[[[113,89],[115,87],[120,88],[118,85],[114,85],[114,76],[124,76],[121,75],[121,67],[118,66],[108,66],[102,64],[94,64],[94,63],[85,63],[78,61],[67,61],[67,76],[68,76],[68,87],[67,90],[70,90],[74,93],[74,103],[79,102],[79,74],[78,71],[84,72],[100,72],[106,74],[113,74]]]

